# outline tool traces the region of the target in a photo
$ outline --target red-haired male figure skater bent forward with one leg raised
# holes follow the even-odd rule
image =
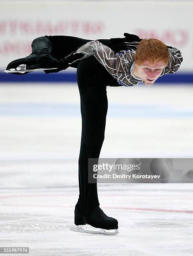
[[[75,206],[76,231],[86,223],[101,229],[117,230],[116,219],[99,207],[97,184],[88,183],[88,159],[99,158],[107,115],[107,86],[131,87],[143,82],[152,85],[164,74],[175,73],[183,60],[178,49],[157,39],[124,38],[95,41],[71,36],[42,36],[32,42],[32,54],[8,64],[7,69],[26,64],[27,69],[77,68],[81,98],[82,133],[79,155],[79,199]],[[92,233],[92,232],[91,232]],[[96,233],[96,232],[95,232]],[[116,234],[115,232],[114,234]]]

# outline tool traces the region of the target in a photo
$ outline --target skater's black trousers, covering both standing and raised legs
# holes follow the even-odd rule
[[[48,39],[51,42],[48,42]],[[51,51],[60,59],[74,51],[76,47],[89,40],[70,36],[45,36],[33,41],[33,51]],[[107,115],[106,85],[119,86],[116,79],[100,64],[94,56],[79,61],[77,82],[81,98],[82,133],[79,155],[79,200],[76,206],[82,214],[99,205],[97,184],[88,183],[88,159],[99,158]]]

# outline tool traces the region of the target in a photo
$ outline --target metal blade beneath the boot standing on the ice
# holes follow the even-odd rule
[[[119,233],[119,231],[116,230],[106,230],[102,228],[93,228],[91,225],[78,225],[70,228],[71,231],[80,232],[80,233],[86,233],[86,234],[93,234],[93,235],[107,235],[107,236],[114,236]]]

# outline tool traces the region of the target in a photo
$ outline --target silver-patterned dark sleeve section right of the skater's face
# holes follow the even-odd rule
[[[170,59],[169,59],[168,65],[163,69],[162,76],[164,74],[175,73],[179,69],[183,61],[182,54],[178,49],[172,48],[172,49],[168,49],[168,51],[170,54]]]

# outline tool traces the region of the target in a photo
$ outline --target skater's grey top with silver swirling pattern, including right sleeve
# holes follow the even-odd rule
[[[107,71],[117,79],[119,84],[131,87],[140,83],[140,81],[132,77],[130,73],[131,66],[135,60],[136,50],[140,43],[126,43],[128,49],[125,51],[119,51],[117,54],[108,46],[105,46],[97,40],[84,44],[76,51],[76,53],[83,53],[84,58],[93,54],[95,58],[107,69]],[[178,49],[172,48],[168,49],[168,51],[170,54],[170,60],[165,69],[163,69],[161,76],[168,73],[175,73],[183,61],[181,52]]]

